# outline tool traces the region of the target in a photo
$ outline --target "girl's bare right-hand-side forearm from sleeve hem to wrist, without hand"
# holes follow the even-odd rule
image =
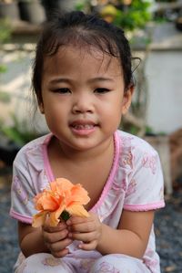
[[[102,225],[97,250],[102,254],[121,253],[141,258],[154,220],[154,211],[131,212],[124,210],[118,229]]]

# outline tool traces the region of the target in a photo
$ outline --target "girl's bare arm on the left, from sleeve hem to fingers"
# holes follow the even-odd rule
[[[45,224],[36,228],[18,223],[19,245],[25,257],[41,252],[64,257],[68,253],[66,247],[72,243],[72,240],[67,238],[67,233],[66,225],[63,223],[56,227]]]

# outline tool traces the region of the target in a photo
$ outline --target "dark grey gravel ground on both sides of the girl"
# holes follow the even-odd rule
[[[0,177],[0,272],[13,272],[18,254],[15,221],[8,216],[11,178]],[[161,257],[161,273],[182,272],[182,189],[167,200],[167,206],[157,212],[157,251]]]

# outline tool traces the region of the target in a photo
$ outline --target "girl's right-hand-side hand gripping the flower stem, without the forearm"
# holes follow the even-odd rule
[[[68,237],[83,242],[79,245],[80,248],[96,249],[102,232],[102,224],[97,215],[91,213],[89,217],[71,216],[66,225],[69,230]]]

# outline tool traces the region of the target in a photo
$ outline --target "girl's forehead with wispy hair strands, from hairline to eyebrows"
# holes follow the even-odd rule
[[[45,57],[44,68],[79,68],[80,65],[87,68],[94,67],[97,71],[118,71],[121,73],[122,68],[120,59],[111,56],[93,46],[62,46],[59,47],[51,57]]]

